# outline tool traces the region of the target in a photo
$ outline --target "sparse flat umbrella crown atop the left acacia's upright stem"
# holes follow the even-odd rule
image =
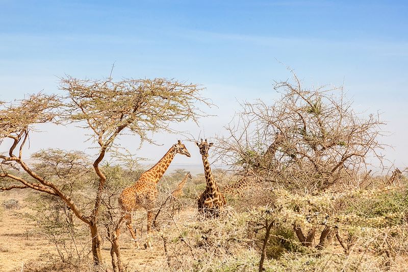
[[[147,132],[168,131],[171,122],[197,121],[205,116],[197,108],[211,106],[200,96],[195,84],[164,78],[81,80],[70,76],[61,78],[60,88],[69,94],[65,104],[68,121],[87,121],[97,141],[111,145],[124,128],[153,141]]]

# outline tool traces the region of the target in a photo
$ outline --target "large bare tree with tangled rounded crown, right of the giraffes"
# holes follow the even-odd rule
[[[305,89],[293,76],[293,82],[275,82],[281,97],[271,105],[262,100],[244,103],[227,126],[230,135],[219,137],[218,159],[244,177],[230,187],[258,183],[318,193],[350,185],[373,158],[381,162],[378,115],[354,112],[342,88]],[[304,235],[294,226],[305,246],[312,245],[316,229]],[[329,231],[327,227],[321,233],[319,248]]]

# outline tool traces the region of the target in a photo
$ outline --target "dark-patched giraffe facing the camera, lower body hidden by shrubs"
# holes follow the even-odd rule
[[[213,143],[208,143],[207,139],[206,141],[201,139],[201,143],[196,142],[196,145],[200,149],[207,183],[206,190],[201,193],[197,201],[198,211],[205,215],[218,216],[219,211],[226,205],[226,199],[220,193],[217,183],[211,174],[210,163],[208,162],[208,151]]]

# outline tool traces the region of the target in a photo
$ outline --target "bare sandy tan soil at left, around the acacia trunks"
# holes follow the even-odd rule
[[[7,199],[17,199],[20,203],[18,209],[2,207],[0,213],[0,271],[71,271],[69,267],[55,264],[59,263],[55,245],[34,231],[35,222],[20,215],[31,211],[24,198],[25,195],[21,191],[0,194],[0,205]],[[190,212],[192,211],[184,212],[184,216],[189,216]],[[120,238],[122,260],[129,270],[160,271],[166,268],[163,243],[160,240],[152,243],[152,249],[145,250],[142,246],[146,239],[145,233],[143,237],[138,237],[142,249],[134,246],[125,228],[122,228]],[[106,264],[111,267],[108,241],[104,243],[103,256]]]

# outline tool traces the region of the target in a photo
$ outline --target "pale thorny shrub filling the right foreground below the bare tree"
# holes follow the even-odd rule
[[[265,241],[267,271],[396,270],[400,268],[396,257],[408,257],[405,214],[367,216],[339,210],[337,203],[364,199],[388,205],[384,194],[392,197],[400,191],[384,187],[300,195],[276,189],[271,191],[275,201],[270,206],[246,212],[230,209],[218,219],[191,218],[176,228],[163,228],[159,235],[166,242],[169,270],[256,271]],[[271,226],[269,237],[267,226]],[[302,245],[295,226],[314,229],[313,246]],[[333,231],[333,238],[329,242],[325,237],[325,246],[319,248],[326,228]]]

